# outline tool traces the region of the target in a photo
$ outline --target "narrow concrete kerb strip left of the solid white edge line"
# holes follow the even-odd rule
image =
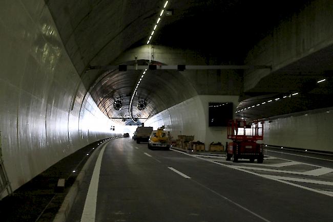
[[[103,144],[103,146],[105,146],[107,143]],[[95,149],[95,151],[91,154],[90,158],[88,158],[85,165],[82,167],[80,173],[76,177],[75,182],[73,183],[72,187],[70,188],[69,192],[67,193],[63,204],[61,204],[61,207],[58,210],[58,213],[55,215],[53,222],[65,222],[66,221],[66,218],[74,204],[78,190],[84,180],[86,172],[90,167],[92,159],[94,159],[94,157],[97,155],[96,153],[99,153],[98,151],[99,151],[100,147],[101,146],[98,146],[97,149]]]

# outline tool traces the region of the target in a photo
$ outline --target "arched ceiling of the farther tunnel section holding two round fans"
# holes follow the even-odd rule
[[[134,64],[128,61],[126,64]],[[138,60],[137,63],[147,64],[149,61]],[[154,62],[155,64],[161,64]],[[107,71],[91,88],[91,96],[97,105],[109,118],[115,122],[126,124],[123,119],[130,118],[129,108],[132,93],[143,70]],[[131,107],[132,117],[144,122],[144,119],[196,95],[196,91],[188,79],[178,71],[147,70],[134,96]],[[120,100],[122,107],[117,110],[114,102]],[[139,101],[147,103],[147,107],[139,110]]]

